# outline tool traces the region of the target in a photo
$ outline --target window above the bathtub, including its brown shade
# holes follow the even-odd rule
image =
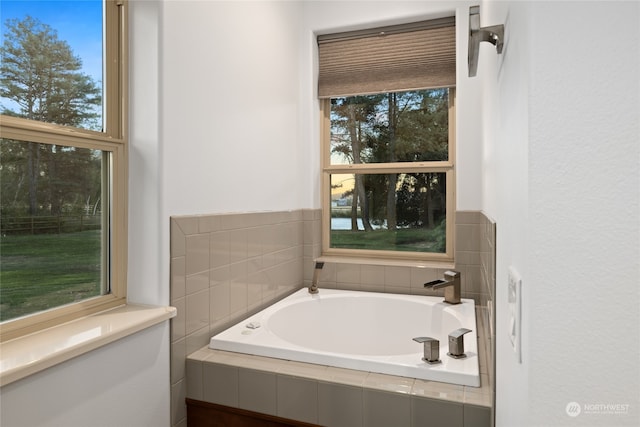
[[[323,254],[453,260],[453,18],[318,37]]]

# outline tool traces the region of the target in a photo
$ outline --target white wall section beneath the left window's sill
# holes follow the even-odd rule
[[[165,322],[2,387],[2,427],[157,427],[169,419]]]

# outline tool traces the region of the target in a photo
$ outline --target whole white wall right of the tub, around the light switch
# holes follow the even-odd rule
[[[485,43],[478,69],[483,209],[498,224],[496,425],[638,425],[639,5],[483,2],[481,17],[506,24],[503,55]],[[509,266],[523,278],[522,364]]]

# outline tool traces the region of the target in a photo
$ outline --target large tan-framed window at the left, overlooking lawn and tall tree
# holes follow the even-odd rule
[[[2,341],[126,296],[126,2],[3,1]]]

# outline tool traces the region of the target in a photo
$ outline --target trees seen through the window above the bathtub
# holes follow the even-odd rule
[[[443,161],[449,155],[447,89],[354,96],[333,100],[332,153],[352,164]],[[356,174],[352,222],[360,204],[365,230],[371,221],[433,228],[445,214],[439,173]],[[356,229],[353,228],[352,229]]]

